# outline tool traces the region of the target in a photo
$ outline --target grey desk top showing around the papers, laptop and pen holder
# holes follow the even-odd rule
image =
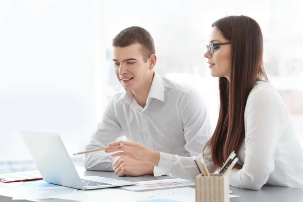
[[[160,180],[160,179],[170,179],[169,176],[144,176],[144,177],[118,177],[114,172],[102,172],[102,171],[86,171],[82,167],[77,168],[80,176],[102,176],[109,177],[114,179],[122,179],[127,181],[146,181],[146,180]],[[194,186],[190,186],[194,188]],[[122,188],[117,188],[122,189]],[[125,190],[125,189],[123,189]],[[288,187],[275,187],[275,186],[264,186],[259,191],[252,191],[246,189],[240,189],[236,187],[230,187],[232,190],[232,194],[239,195],[241,197],[231,198],[231,202],[246,202],[246,201],[258,201],[258,202],[268,202],[268,201],[276,201],[276,202],[303,202],[303,189],[300,188],[288,188]],[[141,191],[138,191],[141,192]],[[1,202],[12,201],[11,197],[0,196]],[[28,201],[28,200],[17,200],[19,201]],[[43,201],[43,202],[71,202],[72,200],[63,200],[63,199],[40,199],[35,201]]]

